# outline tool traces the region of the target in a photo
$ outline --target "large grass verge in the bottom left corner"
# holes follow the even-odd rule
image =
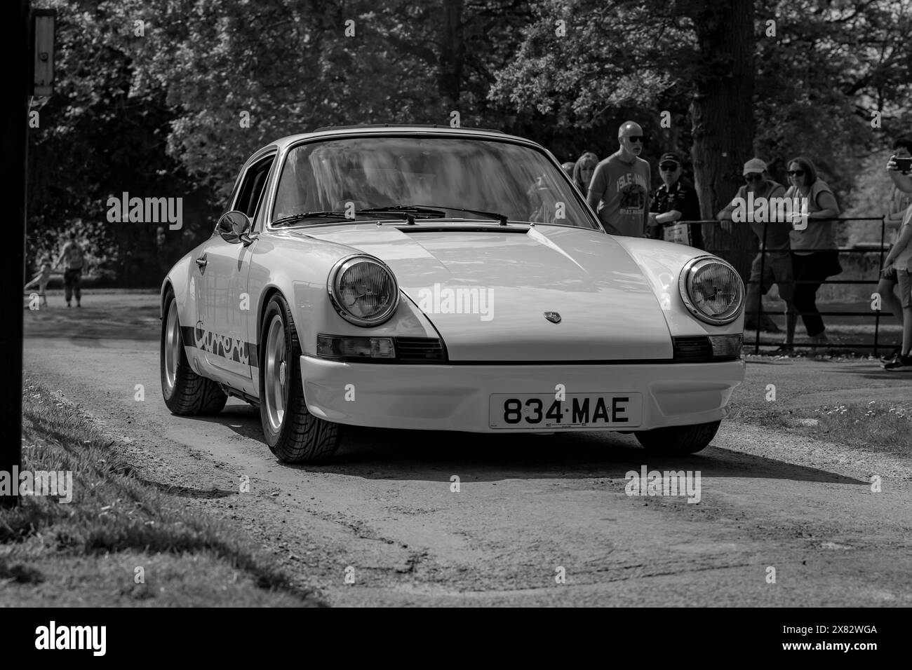
[[[137,478],[77,407],[26,384],[22,469],[71,471],[72,501],[0,510],[0,605],[321,604],[235,528]]]

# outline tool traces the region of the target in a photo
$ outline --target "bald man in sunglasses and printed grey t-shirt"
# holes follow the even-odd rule
[[[649,163],[639,158],[643,129],[625,121],[617,129],[620,149],[596,165],[586,201],[607,232],[643,237],[649,214]]]

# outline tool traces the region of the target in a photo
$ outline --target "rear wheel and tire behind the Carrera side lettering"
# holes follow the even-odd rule
[[[201,414],[218,414],[228,396],[218,383],[197,375],[190,367],[187,352],[181,339],[181,320],[177,301],[169,291],[165,296],[164,318],[161,319],[161,396],[171,414],[189,417]]]

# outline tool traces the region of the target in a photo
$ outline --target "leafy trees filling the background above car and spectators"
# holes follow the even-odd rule
[[[31,131],[29,250],[82,219],[98,265],[127,282],[158,283],[211,232],[255,149],[317,127],[447,125],[455,111],[573,160],[605,158],[633,118],[646,158],[694,158],[707,214],[753,153],[780,180],[809,156],[854,204],[865,156],[912,120],[912,0],[45,5],[58,11],[57,89]],[[124,191],[183,197],[183,229],[108,223]]]

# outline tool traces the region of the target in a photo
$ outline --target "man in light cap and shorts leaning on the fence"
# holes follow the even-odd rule
[[[753,203],[754,211],[760,214],[762,211],[769,212],[767,216],[745,217],[751,222],[751,229],[757,235],[760,241],[761,253],[753,259],[751,263],[751,279],[747,286],[747,296],[744,301],[744,326],[746,328],[757,327],[757,310],[761,304],[761,295],[765,295],[772,284],[779,287],[779,297],[785,301],[786,314],[794,313],[792,296],[794,294],[794,279],[792,272],[792,258],[790,255],[791,244],[789,242],[789,231],[792,230],[790,222],[770,222],[772,213],[777,210],[770,202],[772,198],[783,198],[785,196],[785,187],[777,181],[768,179],[766,174],[766,163],[760,159],[753,158],[744,163],[744,185],[738,189],[735,198],[726,205],[716,216],[722,224],[722,230],[731,232],[731,214],[736,208],[744,208],[747,202]],[[749,199],[749,194],[751,199]],[[765,201],[765,202],[764,202]],[[758,221],[760,220],[767,220]],[[766,231],[766,241],[764,245],[763,234]],[[763,258],[762,249],[766,248],[766,258]],[[761,267],[763,269],[761,273]],[[772,333],[779,332],[779,326],[772,319],[763,314],[761,316],[760,327],[762,330]],[[794,339],[794,323],[786,319],[785,342],[780,349],[789,351],[792,348]]]

